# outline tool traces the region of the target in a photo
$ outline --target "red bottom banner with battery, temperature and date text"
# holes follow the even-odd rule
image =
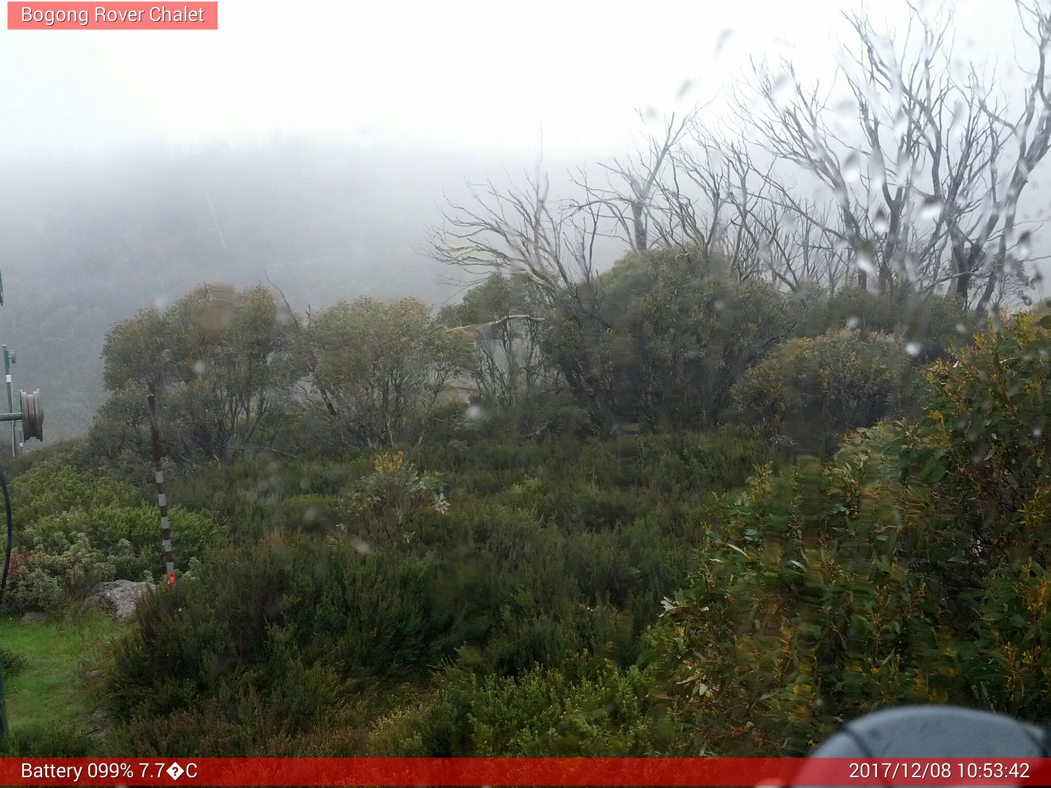
[[[4,758],[0,784],[70,786],[1051,785],[1051,759]]]

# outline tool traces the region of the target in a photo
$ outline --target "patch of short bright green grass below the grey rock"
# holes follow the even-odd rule
[[[121,628],[94,610],[32,624],[0,619],[0,645],[24,660],[15,676],[4,677],[7,721],[16,739],[46,729],[88,733],[100,728],[91,717],[97,684],[91,671]]]

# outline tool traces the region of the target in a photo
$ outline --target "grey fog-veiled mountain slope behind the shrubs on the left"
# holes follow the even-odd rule
[[[269,277],[295,309],[363,294],[441,302],[418,253],[442,191],[478,163],[282,144],[22,163],[0,178],[0,341],[40,389],[48,441],[103,399],[106,330],[204,281]]]

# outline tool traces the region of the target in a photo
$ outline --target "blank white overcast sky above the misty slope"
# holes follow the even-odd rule
[[[0,32],[0,159],[275,132],[613,152],[636,107],[708,99],[749,57],[832,63],[843,0],[220,0],[215,32]],[[903,17],[901,0],[870,2]],[[961,48],[1011,60],[1010,0],[957,0]],[[719,45],[721,42],[721,46]],[[718,50],[718,51],[717,51]]]

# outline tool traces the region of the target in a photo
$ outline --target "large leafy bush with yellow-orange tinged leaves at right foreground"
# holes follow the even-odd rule
[[[724,499],[658,640],[694,746],[803,753],[904,703],[1051,707],[1051,318],[940,362],[918,422]]]

